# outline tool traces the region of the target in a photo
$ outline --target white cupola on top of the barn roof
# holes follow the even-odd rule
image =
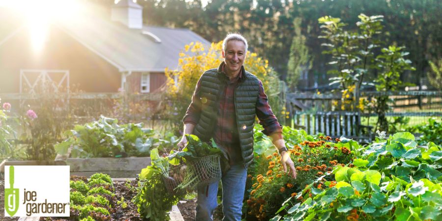
[[[143,7],[133,0],[120,0],[111,8],[111,20],[129,28],[143,28]]]

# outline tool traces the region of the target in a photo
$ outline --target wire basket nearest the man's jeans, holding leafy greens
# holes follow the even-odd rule
[[[221,180],[220,156],[201,157],[189,162],[188,172],[195,176],[191,188],[207,186]]]

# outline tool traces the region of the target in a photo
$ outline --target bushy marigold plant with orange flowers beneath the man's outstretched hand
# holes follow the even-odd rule
[[[259,129],[255,128],[255,131]],[[248,214],[258,220],[270,219],[287,197],[295,197],[306,185],[317,179],[321,180],[331,170],[331,166],[350,163],[361,148],[358,142],[347,138],[332,142],[331,138],[313,137],[306,135],[305,131],[283,127],[283,137],[297,170],[297,178],[292,179],[282,171],[281,159],[270,139],[259,133],[255,132],[258,134],[255,138],[259,141],[255,142],[256,161],[248,169],[248,183],[251,186],[248,185],[246,195],[249,198]],[[263,145],[264,141],[270,142],[269,145],[258,146]],[[345,171],[345,174],[337,175],[336,180],[346,180],[347,172],[350,174],[350,171]],[[312,193],[317,191],[320,189],[312,189]]]

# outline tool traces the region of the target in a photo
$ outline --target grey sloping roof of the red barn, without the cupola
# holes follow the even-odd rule
[[[0,10],[1,11],[1,10]],[[28,27],[11,13],[0,13],[0,48],[17,34],[28,34]],[[120,72],[163,72],[178,67],[179,53],[191,42],[210,42],[187,28],[143,26],[131,29],[102,16],[85,15],[75,20],[56,21],[61,28],[86,48],[101,56]]]

